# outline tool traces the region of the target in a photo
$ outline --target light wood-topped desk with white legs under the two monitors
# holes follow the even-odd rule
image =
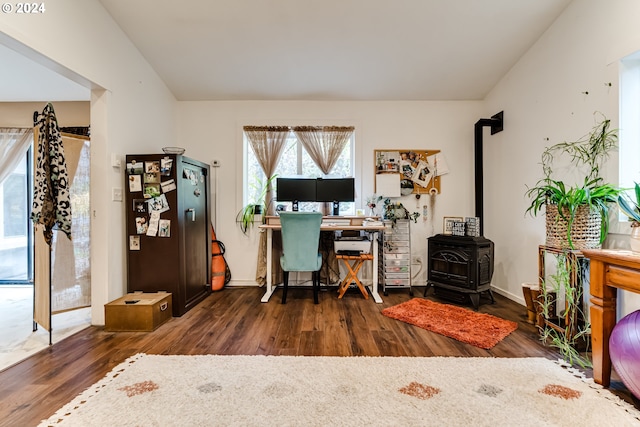
[[[327,219],[331,219],[332,217],[327,217]],[[378,293],[378,232],[384,230],[384,225],[380,226],[366,226],[362,225],[363,217],[359,217],[358,219],[352,219],[350,224],[355,225],[345,225],[336,223],[335,225],[329,225],[323,223],[320,226],[320,231],[343,231],[343,230],[355,230],[355,231],[367,231],[373,233],[373,247],[371,252],[373,254],[373,283],[368,286],[371,291],[371,296],[373,300],[379,304],[382,304],[382,298]],[[260,226],[262,230],[266,230],[267,232],[267,284],[266,284],[266,292],[262,296],[262,302],[268,302],[273,292],[276,290],[276,285],[272,283],[272,261],[273,261],[273,231],[280,230],[280,221],[279,218],[267,218],[267,223]]]

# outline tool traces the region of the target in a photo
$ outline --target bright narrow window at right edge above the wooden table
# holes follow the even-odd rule
[[[619,185],[633,188],[640,183],[640,52],[620,64]],[[627,221],[620,214],[620,221]]]

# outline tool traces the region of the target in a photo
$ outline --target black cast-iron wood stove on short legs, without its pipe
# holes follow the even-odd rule
[[[493,276],[493,242],[484,237],[438,234],[428,239],[427,288],[435,288],[436,295],[458,302],[467,296],[477,310],[480,294],[491,292]]]

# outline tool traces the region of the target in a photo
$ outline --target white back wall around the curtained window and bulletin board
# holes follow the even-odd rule
[[[216,235],[227,249],[230,285],[256,285],[258,233],[248,237],[237,226],[242,207],[242,127],[244,125],[354,125],[357,208],[374,193],[374,149],[436,149],[451,172],[442,177],[433,218],[411,224],[412,252],[426,259],[426,238],[442,232],[443,216],[471,216],[473,204],[473,127],[479,102],[180,102],[178,145],[186,155],[210,163],[219,160]],[[214,185],[212,185],[214,187]],[[423,195],[401,198],[422,213],[430,203]],[[416,266],[416,270],[418,267]],[[424,269],[416,283],[424,283]]]

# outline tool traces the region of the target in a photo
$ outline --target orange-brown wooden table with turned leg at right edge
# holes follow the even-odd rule
[[[609,337],[616,324],[617,289],[640,293],[640,255],[612,249],[583,249],[582,253],[591,260],[593,380],[608,387]]]

